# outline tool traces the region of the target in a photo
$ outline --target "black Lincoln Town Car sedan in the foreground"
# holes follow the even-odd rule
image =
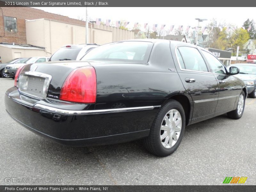
[[[143,139],[151,153],[168,156],[185,126],[243,115],[247,89],[233,76],[238,73],[195,45],[121,41],[96,47],[80,61],[20,67],[5,107],[25,128],[60,144]]]

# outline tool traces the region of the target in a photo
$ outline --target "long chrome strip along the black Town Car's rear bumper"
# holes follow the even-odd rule
[[[43,109],[46,111],[66,114],[66,115],[92,115],[92,114],[104,114],[104,113],[119,113],[130,111],[141,111],[159,108],[160,106],[145,106],[145,107],[130,107],[130,108],[116,108],[116,109],[96,109],[96,110],[66,110],[60,108],[49,107],[42,104],[36,104],[34,108]]]

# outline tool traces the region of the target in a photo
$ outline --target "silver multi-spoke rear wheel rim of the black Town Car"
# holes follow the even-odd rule
[[[180,112],[176,109],[170,110],[161,124],[160,140],[164,148],[171,148],[180,137],[182,119]]]

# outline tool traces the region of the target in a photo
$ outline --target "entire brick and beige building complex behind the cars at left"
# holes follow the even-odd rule
[[[50,57],[61,46],[84,44],[85,34],[85,21],[31,7],[0,7],[2,62],[17,57]],[[88,23],[87,35],[88,43],[99,45],[134,38],[133,31],[104,24],[96,25],[95,22]],[[13,43],[15,45],[12,45]],[[33,46],[28,49],[24,48],[23,44]],[[33,48],[35,46],[37,48]]]

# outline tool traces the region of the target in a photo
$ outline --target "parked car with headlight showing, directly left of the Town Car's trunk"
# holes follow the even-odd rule
[[[20,66],[23,66],[25,64],[31,64],[31,63],[40,63],[40,62],[46,62],[49,60],[49,57],[30,57],[23,60],[22,63],[15,63],[15,64],[8,64],[4,68],[5,74],[8,76],[14,78],[16,71]]]

